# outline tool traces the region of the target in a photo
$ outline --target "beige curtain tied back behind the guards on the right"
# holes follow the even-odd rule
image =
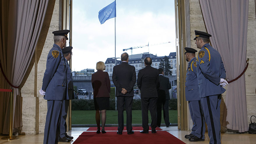
[[[248,31],[248,0],[199,0],[211,45],[221,54],[226,79],[238,77],[246,66]],[[223,126],[227,129],[248,131],[245,74],[229,83]],[[225,117],[226,116],[226,117]]]

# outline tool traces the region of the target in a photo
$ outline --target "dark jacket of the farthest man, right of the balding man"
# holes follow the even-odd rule
[[[164,77],[163,75],[158,76],[158,98],[161,99],[170,99],[169,89],[171,89],[171,84],[168,77]]]

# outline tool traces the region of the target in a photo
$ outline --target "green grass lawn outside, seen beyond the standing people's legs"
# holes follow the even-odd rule
[[[118,112],[115,110],[107,110],[106,124],[118,124],[117,118]],[[169,110],[169,118],[171,123],[178,123],[177,110]],[[148,111],[148,123],[151,123],[150,112]],[[126,111],[124,111],[124,122],[126,124]],[[141,110],[132,110],[132,123],[141,124]],[[163,110],[162,110],[162,121],[163,120]],[[73,110],[72,111],[72,125],[86,125],[86,124],[96,124],[95,121],[95,110]]]

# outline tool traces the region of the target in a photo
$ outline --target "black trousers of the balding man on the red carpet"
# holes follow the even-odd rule
[[[142,113],[142,127],[145,132],[148,132],[148,109],[151,116],[151,129],[157,127],[157,97],[141,98],[141,113]]]

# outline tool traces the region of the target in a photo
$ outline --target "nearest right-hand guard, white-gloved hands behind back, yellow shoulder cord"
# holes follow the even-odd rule
[[[221,55],[210,46],[210,37],[208,33],[195,31],[195,44],[200,49],[197,56],[197,78],[210,144],[220,144],[221,94],[225,92],[223,87],[228,83]]]

